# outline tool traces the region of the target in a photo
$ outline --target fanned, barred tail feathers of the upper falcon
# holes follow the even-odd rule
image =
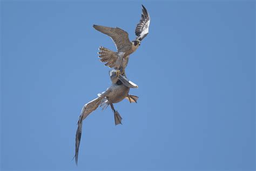
[[[117,60],[116,52],[113,52],[110,49],[100,46],[98,54],[100,61],[107,62],[105,63],[105,66],[109,66],[110,68],[114,66],[114,63]]]

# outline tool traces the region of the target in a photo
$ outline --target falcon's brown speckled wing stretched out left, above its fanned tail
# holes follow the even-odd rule
[[[121,28],[112,28],[112,27],[105,27],[100,25],[93,25],[93,27],[102,32],[106,35],[109,35],[111,39],[114,41],[116,45],[117,51],[120,51],[124,47],[131,46],[131,41],[129,40],[129,35],[126,31],[122,30]]]

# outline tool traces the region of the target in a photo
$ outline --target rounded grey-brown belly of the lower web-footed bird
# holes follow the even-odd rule
[[[124,85],[114,86],[110,94],[107,96],[107,101],[109,103],[118,103],[128,95],[129,91],[130,88]]]

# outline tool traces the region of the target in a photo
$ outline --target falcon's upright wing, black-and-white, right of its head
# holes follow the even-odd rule
[[[150,16],[147,12],[145,6],[142,5],[142,18],[139,20],[139,24],[137,24],[135,29],[135,34],[137,35],[137,40],[142,41],[149,33],[149,24],[150,24]]]

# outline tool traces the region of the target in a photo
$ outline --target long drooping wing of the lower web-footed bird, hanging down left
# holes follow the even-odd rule
[[[81,134],[82,134],[82,123],[83,120],[94,110],[96,110],[102,101],[104,97],[106,97],[109,94],[110,90],[105,91],[103,94],[101,94],[98,98],[92,100],[89,103],[86,103],[83,106],[81,115],[78,120],[78,127],[77,127],[77,133],[76,133],[76,154],[74,158],[76,158],[76,164],[78,162],[78,150],[79,150],[79,145],[80,145],[80,140],[81,140]]]

